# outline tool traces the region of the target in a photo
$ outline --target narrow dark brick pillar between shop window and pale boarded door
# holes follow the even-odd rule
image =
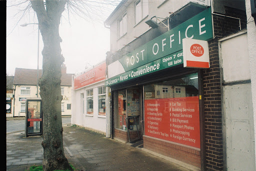
[[[209,42],[210,68],[203,70],[206,168],[223,170],[222,113],[218,41]]]

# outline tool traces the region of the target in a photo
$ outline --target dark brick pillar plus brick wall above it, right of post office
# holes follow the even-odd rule
[[[246,28],[245,11],[226,8],[226,15],[239,17]],[[223,171],[221,84],[218,39],[239,30],[237,19],[213,14],[214,39],[208,41],[210,68],[203,70],[205,156],[207,171]]]

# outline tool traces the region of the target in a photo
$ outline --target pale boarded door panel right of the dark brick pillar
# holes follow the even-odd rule
[[[224,86],[227,171],[255,171],[251,85]]]

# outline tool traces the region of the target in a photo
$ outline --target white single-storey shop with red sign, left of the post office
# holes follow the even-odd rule
[[[71,124],[109,137],[105,71],[102,62],[73,78]]]

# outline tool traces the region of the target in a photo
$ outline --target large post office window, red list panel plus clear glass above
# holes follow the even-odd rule
[[[149,89],[156,92],[155,97],[144,98],[145,136],[200,148],[198,79],[195,78],[197,74],[193,73],[144,85],[144,94]]]

